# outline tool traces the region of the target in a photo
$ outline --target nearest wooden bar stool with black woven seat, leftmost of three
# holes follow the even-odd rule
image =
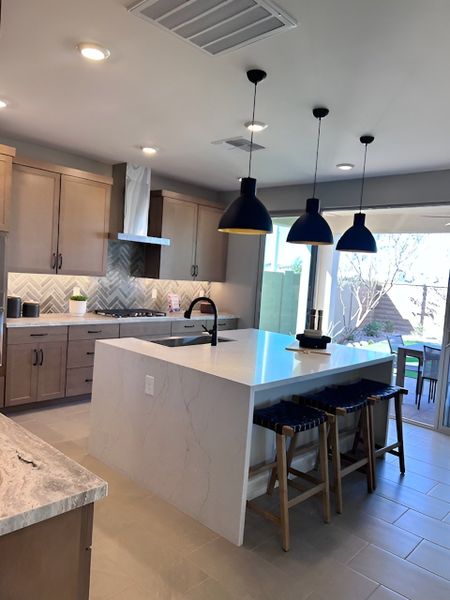
[[[276,433],[276,458],[269,464],[260,467],[251,467],[249,474],[255,475],[262,471],[271,469],[272,475],[269,480],[267,492],[272,493],[278,479],[280,488],[280,514],[261,508],[254,500],[247,502],[248,508],[259,513],[263,517],[276,523],[281,529],[282,547],[286,552],[290,547],[289,540],[289,509],[304,502],[316,494],[322,495],[323,518],[326,523],[330,521],[330,490],[328,480],[328,449],[327,449],[327,416],[324,412],[300,406],[294,402],[281,401],[267,408],[258,408],[253,414],[253,423]],[[291,462],[294,456],[298,436],[302,431],[319,428],[319,459],[320,479],[294,469]],[[290,438],[289,449],[286,451],[286,438]],[[312,483],[312,487],[305,489],[296,480],[289,479],[289,475],[306,479]],[[288,486],[294,487],[301,493],[291,498],[288,497]]]

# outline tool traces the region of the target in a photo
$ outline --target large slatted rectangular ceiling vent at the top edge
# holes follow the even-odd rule
[[[143,0],[128,10],[213,56],[297,26],[269,0]]]

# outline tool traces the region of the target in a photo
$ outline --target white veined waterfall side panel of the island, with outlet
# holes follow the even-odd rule
[[[247,386],[97,345],[90,453],[235,544],[243,539],[252,412]]]

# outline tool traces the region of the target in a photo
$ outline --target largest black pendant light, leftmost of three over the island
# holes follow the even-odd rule
[[[267,73],[261,69],[247,71],[247,77],[254,84],[252,125],[255,122],[256,86],[265,79]],[[241,179],[241,193],[236,200],[227,206],[223,213],[218,230],[224,233],[241,233],[246,235],[265,235],[272,233],[272,219],[267,208],[256,197],[256,179],[251,177],[253,128],[250,137],[250,154],[248,159],[248,177]]]

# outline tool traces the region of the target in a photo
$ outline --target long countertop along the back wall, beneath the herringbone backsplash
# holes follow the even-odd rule
[[[204,320],[213,319],[213,315],[201,313],[200,311],[192,312],[192,319]],[[219,319],[238,319],[237,315],[229,313],[219,313]],[[49,327],[61,325],[102,325],[104,323],[146,323],[155,321],[177,321],[184,319],[184,310],[178,313],[167,313],[165,317],[125,317],[117,319],[116,317],[102,317],[95,313],[86,313],[82,317],[75,317],[69,313],[46,313],[40,317],[20,317],[19,319],[7,319],[6,327]]]

